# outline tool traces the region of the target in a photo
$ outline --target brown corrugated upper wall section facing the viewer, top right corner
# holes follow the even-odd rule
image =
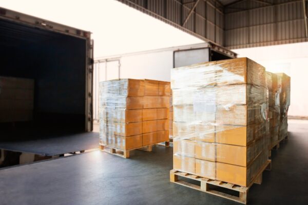
[[[237,49],[307,41],[303,1],[267,2],[264,5],[241,1],[225,9],[225,47]],[[278,5],[271,5],[274,3]]]

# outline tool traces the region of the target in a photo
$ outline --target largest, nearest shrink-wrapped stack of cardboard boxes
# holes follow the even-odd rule
[[[172,69],[174,169],[248,186],[268,158],[265,85],[248,58]]]

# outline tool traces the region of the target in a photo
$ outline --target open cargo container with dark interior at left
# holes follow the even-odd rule
[[[0,76],[34,82],[32,119],[0,123],[1,141],[92,131],[89,31],[0,8],[0,45]]]

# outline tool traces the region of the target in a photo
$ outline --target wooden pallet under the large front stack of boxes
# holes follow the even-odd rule
[[[193,174],[188,174],[185,172],[179,172],[176,170],[171,170],[170,171],[170,181],[177,183],[179,185],[185,186],[185,187],[189,187],[191,189],[196,189],[202,192],[206,192],[209,194],[213,194],[216,196],[220,196],[226,199],[230,199],[233,201],[237,201],[240,203],[247,203],[247,194],[248,194],[248,190],[249,188],[252,187],[252,185],[254,183],[257,183],[259,185],[261,185],[262,183],[262,174],[264,170],[271,170],[271,165],[272,165],[272,161],[271,160],[267,160],[266,163],[264,164],[264,166],[262,167],[262,169],[260,169],[259,173],[255,176],[255,178],[252,180],[252,182],[249,184],[248,187],[242,187],[242,186],[238,186],[238,185],[234,185],[232,183],[227,183],[224,181],[219,181],[219,180],[213,180],[213,179],[208,179],[208,178],[204,178],[204,177],[199,177]],[[200,186],[195,185],[193,183],[189,183],[183,180],[179,180],[178,176],[184,177],[186,179],[192,179],[192,180],[196,180],[196,181],[200,181]],[[214,186],[214,187],[222,187],[228,190],[233,190],[236,192],[239,192],[239,196],[235,196],[235,195],[230,195],[221,191],[216,191],[216,190],[211,190],[209,188],[210,186]]]

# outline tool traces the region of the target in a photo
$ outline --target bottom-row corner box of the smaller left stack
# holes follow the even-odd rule
[[[120,150],[131,150],[142,147],[142,135],[129,137],[116,136],[117,148]]]

